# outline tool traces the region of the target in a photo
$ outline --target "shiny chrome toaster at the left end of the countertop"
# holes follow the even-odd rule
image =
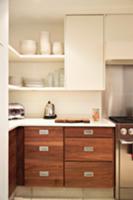
[[[9,104],[9,120],[12,119],[24,119],[25,110],[24,106],[19,103],[10,103]]]

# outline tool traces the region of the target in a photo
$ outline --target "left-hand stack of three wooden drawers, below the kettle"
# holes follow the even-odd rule
[[[63,185],[63,128],[25,128],[25,185]]]

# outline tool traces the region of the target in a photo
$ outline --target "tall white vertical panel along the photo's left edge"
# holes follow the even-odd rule
[[[0,0],[0,200],[8,199],[8,0]]]

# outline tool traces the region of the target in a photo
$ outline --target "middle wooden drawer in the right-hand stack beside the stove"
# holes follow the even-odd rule
[[[111,138],[66,138],[66,161],[112,161],[113,139]]]

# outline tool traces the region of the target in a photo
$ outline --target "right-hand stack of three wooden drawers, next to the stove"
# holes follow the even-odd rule
[[[65,129],[65,186],[114,187],[114,130]]]

